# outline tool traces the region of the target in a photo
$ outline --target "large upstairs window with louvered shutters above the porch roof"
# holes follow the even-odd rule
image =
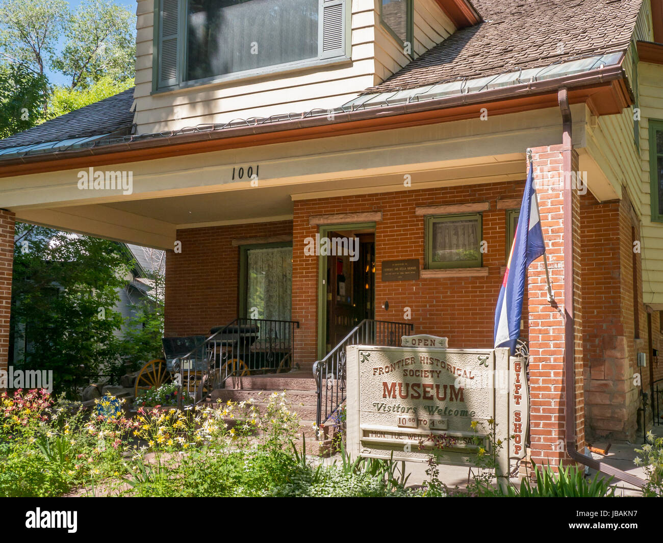
[[[351,0],[160,0],[155,90],[343,59]]]

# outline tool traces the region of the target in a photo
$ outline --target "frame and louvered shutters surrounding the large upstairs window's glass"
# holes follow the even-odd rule
[[[411,0],[410,0],[411,1]],[[255,78],[264,78],[270,74],[286,74],[288,72],[297,72],[299,70],[310,70],[323,66],[333,66],[334,64],[344,64],[349,62],[351,51],[351,26],[352,9],[351,0],[319,0],[320,19],[318,27],[318,56],[275,64],[274,66],[265,66],[244,70],[241,72],[231,72],[210,78],[199,80],[186,80],[186,13],[188,0],[154,0],[154,34],[152,36],[152,94],[164,93],[168,91],[188,89],[196,86],[217,84],[217,83],[237,83],[243,80]],[[170,8],[169,13],[176,11],[177,29],[176,34],[172,32],[172,25],[169,25],[167,35],[162,35],[164,27],[162,21],[162,11],[164,7]],[[340,16],[337,10],[340,9]],[[176,54],[173,56],[172,41],[176,37]],[[162,74],[164,65],[164,54],[168,57],[169,66],[175,64],[175,73],[168,72]]]

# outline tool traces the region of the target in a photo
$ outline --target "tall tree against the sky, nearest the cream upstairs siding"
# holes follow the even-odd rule
[[[86,0],[64,23],[66,42],[53,67],[71,78],[71,89],[88,88],[101,78],[133,79],[136,44],[133,13],[111,0]]]

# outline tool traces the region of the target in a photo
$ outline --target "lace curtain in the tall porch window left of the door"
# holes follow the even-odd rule
[[[292,247],[249,249],[247,268],[247,317],[290,320]]]

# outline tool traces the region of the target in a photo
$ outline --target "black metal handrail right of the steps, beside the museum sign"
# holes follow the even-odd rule
[[[313,365],[318,392],[316,424],[326,422],[345,401],[345,347],[348,345],[388,345],[397,347],[414,324],[364,319],[330,353]],[[324,383],[324,391],[322,390]]]

